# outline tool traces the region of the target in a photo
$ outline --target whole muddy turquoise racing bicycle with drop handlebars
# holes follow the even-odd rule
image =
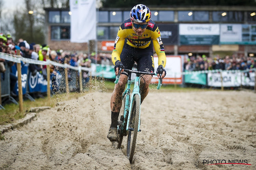
[[[123,68],[120,67],[119,72],[116,76],[115,84],[118,83],[120,72]],[[116,149],[119,149],[123,142],[123,137],[127,136],[127,147],[126,153],[127,157],[132,162],[132,158],[135,151],[135,145],[137,140],[137,133],[140,132],[140,78],[143,78],[142,75],[157,75],[156,73],[151,72],[142,72],[136,70],[124,69],[128,72],[127,87],[122,96],[122,107],[120,109],[118,124],[117,124],[117,137],[118,141],[113,142],[113,146]],[[162,74],[162,70],[160,73]],[[131,73],[136,73],[134,80],[131,80]],[[160,74],[160,77],[161,77]],[[143,78],[144,79],[144,78]],[[144,80],[145,81],[145,80]],[[132,94],[130,95],[131,84],[134,83]],[[160,89],[162,85],[162,79],[158,80],[157,89]]]

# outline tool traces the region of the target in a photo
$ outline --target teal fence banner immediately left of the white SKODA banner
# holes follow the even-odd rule
[[[184,82],[207,85],[207,74],[206,73],[185,74]]]

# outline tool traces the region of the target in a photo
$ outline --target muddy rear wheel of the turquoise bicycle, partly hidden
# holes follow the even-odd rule
[[[123,101],[122,101],[122,107],[119,112],[118,122],[124,121],[125,100],[126,100],[126,95],[124,96]],[[123,118],[122,118],[122,116],[123,116]],[[128,116],[128,115],[126,114],[126,116]],[[123,120],[121,120],[121,119],[123,119]],[[121,123],[119,123],[119,126],[120,125],[121,125]],[[124,127],[124,128],[126,128],[126,127]],[[121,131],[117,131],[117,137],[118,137],[118,141],[114,142],[113,145],[114,145],[114,148],[119,149],[119,148],[121,148],[124,135],[123,135],[123,133],[121,133]]]

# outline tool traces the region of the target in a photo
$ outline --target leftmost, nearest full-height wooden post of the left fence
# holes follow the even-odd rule
[[[17,57],[20,58],[20,50],[17,50]],[[22,93],[22,73],[21,73],[21,64],[17,63],[18,71],[18,89],[19,89],[19,112],[23,112],[23,93]]]

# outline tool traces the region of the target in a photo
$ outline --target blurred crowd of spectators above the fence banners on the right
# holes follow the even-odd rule
[[[245,57],[244,54],[226,55],[222,58],[219,55],[213,58],[206,55],[198,55],[189,57],[183,65],[186,71],[200,71],[200,70],[247,70],[256,68],[255,57]]]

